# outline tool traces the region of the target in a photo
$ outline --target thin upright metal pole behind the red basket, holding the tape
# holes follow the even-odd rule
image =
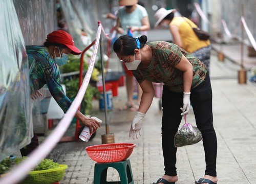
[[[98,21],[98,25],[100,25],[100,21]],[[103,53],[102,53],[102,40],[101,35],[99,39],[99,48],[100,48],[100,60],[101,60],[101,75],[102,75],[102,85],[103,85],[103,96],[104,96],[104,109],[105,109],[105,126],[106,126],[106,134],[110,132],[109,129],[109,120],[108,120],[108,104],[106,102],[106,89],[105,89],[105,76],[104,76],[104,63],[103,63]]]

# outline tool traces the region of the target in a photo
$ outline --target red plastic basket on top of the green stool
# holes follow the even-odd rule
[[[128,158],[135,146],[132,143],[102,144],[89,146],[86,148],[86,151],[95,162],[112,163]]]

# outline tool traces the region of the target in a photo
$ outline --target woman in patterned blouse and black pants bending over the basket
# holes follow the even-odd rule
[[[197,127],[203,135],[206,161],[205,180],[200,179],[197,183],[216,183],[217,138],[212,124],[212,91],[206,66],[174,43],[146,41],[145,35],[139,38],[124,35],[113,45],[117,57],[132,68],[143,91],[130,137],[138,139],[141,135],[142,120],[154,98],[152,82],[163,82],[162,149],[165,174],[157,183],[175,183],[178,180],[174,136],[182,116],[189,112],[190,100]]]

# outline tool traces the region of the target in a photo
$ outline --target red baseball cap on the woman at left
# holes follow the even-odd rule
[[[71,54],[73,55],[79,55],[82,53],[79,49],[75,47],[72,36],[66,31],[57,30],[51,32],[49,35],[47,35],[46,41],[66,45],[71,50]]]

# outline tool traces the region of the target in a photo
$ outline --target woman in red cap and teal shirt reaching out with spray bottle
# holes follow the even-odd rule
[[[47,35],[44,45],[28,45],[26,46],[29,61],[29,78],[31,99],[35,100],[42,94],[38,91],[45,84],[48,86],[52,97],[56,100],[61,109],[66,112],[71,106],[70,99],[65,95],[60,84],[59,67],[66,64],[68,54],[79,55],[81,51],[74,45],[72,36],[62,30],[54,31]],[[90,127],[91,132],[95,132],[100,127],[99,122],[94,119],[87,118],[77,110],[75,114],[84,125]],[[22,148],[20,152],[23,156],[28,155],[38,146],[37,135],[34,134],[31,143]]]

